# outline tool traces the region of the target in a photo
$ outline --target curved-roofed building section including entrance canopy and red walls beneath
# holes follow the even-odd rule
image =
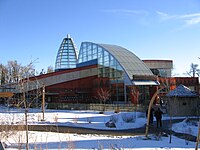
[[[145,63],[120,46],[83,42],[77,68],[94,64],[98,67],[99,82],[108,82],[111,102],[138,103],[138,100],[149,100],[149,87],[158,85]],[[101,88],[100,84],[98,88]],[[137,98],[138,92],[140,97]]]

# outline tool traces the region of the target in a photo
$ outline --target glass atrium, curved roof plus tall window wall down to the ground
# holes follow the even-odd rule
[[[111,99],[127,101],[133,76],[153,76],[151,70],[136,55],[116,45],[83,42],[77,67],[98,65],[98,77],[110,81]]]

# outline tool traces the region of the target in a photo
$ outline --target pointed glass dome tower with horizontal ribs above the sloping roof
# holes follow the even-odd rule
[[[60,44],[56,57],[55,71],[76,68],[76,63],[76,47],[73,39],[68,34],[67,38],[64,38]]]

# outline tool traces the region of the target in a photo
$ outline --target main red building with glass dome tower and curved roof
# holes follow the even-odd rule
[[[58,50],[55,72],[25,83],[33,93],[45,85],[48,103],[99,103],[99,91],[109,92],[107,103],[144,104],[155,92],[156,76],[129,50],[110,44],[82,42],[78,59],[72,39],[64,38]],[[20,93],[15,87],[15,93]]]

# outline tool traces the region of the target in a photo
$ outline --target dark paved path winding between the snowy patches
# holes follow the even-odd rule
[[[183,119],[175,119],[173,123],[181,122]],[[149,127],[149,134],[158,135],[160,133],[170,134],[169,130],[170,120],[163,120],[163,127],[157,128],[156,126]],[[154,124],[156,124],[154,122]],[[99,135],[145,135],[146,126],[141,128],[133,128],[126,130],[99,130],[99,129],[90,129],[90,128],[80,128],[80,127],[69,127],[69,126],[56,126],[56,125],[29,125],[29,131],[41,131],[41,132],[60,132],[60,133],[77,133],[77,134],[99,134]],[[24,125],[1,125],[0,131],[9,131],[9,130],[25,130]],[[172,131],[172,135],[177,136],[182,139],[187,139],[188,141],[196,142],[196,137],[184,134],[177,133]]]

